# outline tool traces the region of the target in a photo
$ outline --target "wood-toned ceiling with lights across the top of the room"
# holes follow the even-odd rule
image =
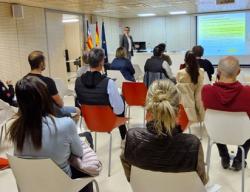
[[[185,10],[188,14],[195,14],[250,9],[250,0],[235,0],[235,3],[227,5],[216,5],[216,0],[3,0],[2,2],[117,18],[137,17],[138,13],[155,13],[162,16],[169,15],[170,11]]]

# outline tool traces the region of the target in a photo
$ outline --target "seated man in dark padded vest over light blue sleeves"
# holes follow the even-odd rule
[[[104,57],[103,49],[94,48],[90,50],[90,71],[76,79],[77,100],[81,105],[110,105],[115,114],[124,116],[124,102],[115,82],[101,74]],[[119,130],[121,138],[124,140],[127,132],[126,126],[120,126]]]

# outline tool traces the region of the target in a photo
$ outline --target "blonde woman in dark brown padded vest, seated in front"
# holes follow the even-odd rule
[[[148,90],[146,129],[129,129],[121,161],[128,181],[131,166],[161,172],[196,171],[207,183],[200,140],[176,125],[180,95],[171,81],[156,80]]]

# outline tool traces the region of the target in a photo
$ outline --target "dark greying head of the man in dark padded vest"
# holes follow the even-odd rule
[[[93,48],[89,51],[89,65],[91,68],[97,68],[104,65],[105,53],[101,48]]]

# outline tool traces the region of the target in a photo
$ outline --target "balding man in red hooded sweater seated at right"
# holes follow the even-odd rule
[[[213,85],[205,85],[202,89],[202,101],[205,109],[214,109],[231,112],[247,112],[250,117],[250,86],[243,86],[237,81],[240,73],[239,60],[233,56],[227,56],[220,60],[217,69],[217,82]],[[237,129],[237,127],[235,127]],[[249,136],[250,138],[250,136]],[[221,164],[224,169],[230,167],[230,157],[226,145],[217,143]],[[247,153],[250,148],[250,139],[243,148]],[[241,150],[238,148],[232,168],[241,170]],[[246,162],[245,162],[246,166]]]

